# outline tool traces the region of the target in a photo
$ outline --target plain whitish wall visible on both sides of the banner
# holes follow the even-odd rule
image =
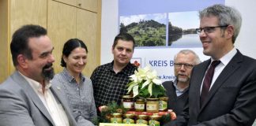
[[[102,1],[101,19],[101,64],[113,60],[111,46],[115,35],[119,33],[118,22],[119,0]],[[256,58],[256,1],[225,0],[227,6],[234,6],[242,14],[243,23],[235,47],[243,54]]]

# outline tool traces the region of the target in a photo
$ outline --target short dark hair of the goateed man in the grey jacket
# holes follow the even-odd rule
[[[28,39],[47,35],[47,30],[40,25],[28,24],[17,29],[13,33],[10,43],[10,50],[13,58],[13,65],[17,66],[17,56],[24,54],[28,59],[32,59],[32,49],[28,46]]]

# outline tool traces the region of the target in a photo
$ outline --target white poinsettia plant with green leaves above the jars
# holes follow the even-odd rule
[[[130,94],[132,91],[134,97],[142,98],[159,98],[166,95],[156,70],[152,70],[149,65],[144,69],[138,68],[134,75],[129,77],[130,83],[127,84],[127,94]]]

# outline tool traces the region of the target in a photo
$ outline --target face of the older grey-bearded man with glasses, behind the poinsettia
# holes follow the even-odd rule
[[[194,63],[195,56],[194,54],[177,54],[175,63],[177,64],[188,64],[195,65]],[[190,81],[190,72],[192,68],[186,68],[185,65],[181,67],[175,66],[175,76],[179,82],[188,83]]]

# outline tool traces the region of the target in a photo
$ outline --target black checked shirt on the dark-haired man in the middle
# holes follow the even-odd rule
[[[122,95],[127,93],[126,85],[129,82],[129,76],[137,69],[135,65],[129,63],[120,72],[115,73],[113,65],[114,61],[100,65],[92,72],[91,80],[96,107],[107,105],[112,101],[120,104]]]

